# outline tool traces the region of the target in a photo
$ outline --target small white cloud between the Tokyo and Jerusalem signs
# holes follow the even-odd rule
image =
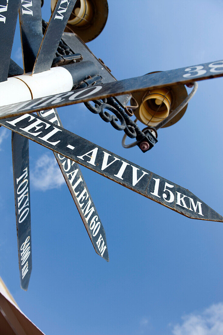
[[[41,191],[59,188],[65,183],[56,158],[47,154],[36,161],[34,171],[30,171],[30,180],[32,185]]]

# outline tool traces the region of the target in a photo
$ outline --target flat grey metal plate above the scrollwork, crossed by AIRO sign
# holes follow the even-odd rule
[[[62,36],[62,40],[73,50],[75,53],[80,53],[84,61],[93,62],[98,68],[98,74],[102,77],[101,82],[103,84],[116,81],[116,78],[111,74],[102,60],[95,57],[92,51],[88,48],[88,46],[80,39],[80,37],[76,34],[71,34],[69,32],[64,32]],[[125,107],[131,98],[130,94],[120,95],[119,97],[115,97],[118,102]]]

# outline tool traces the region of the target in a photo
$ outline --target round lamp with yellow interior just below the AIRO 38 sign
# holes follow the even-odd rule
[[[143,124],[154,127],[170,115],[188,96],[188,93],[184,85],[178,84],[149,91],[134,92],[132,96],[139,105],[139,107],[133,111],[136,118]],[[172,126],[179,121],[186,109],[187,106],[161,128]]]

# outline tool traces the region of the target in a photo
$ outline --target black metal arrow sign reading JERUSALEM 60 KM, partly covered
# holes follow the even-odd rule
[[[50,111],[42,111],[38,114],[45,121],[50,121],[55,125],[63,127],[56,110],[52,109]],[[85,225],[96,253],[108,262],[109,258],[105,231],[101,224],[101,220],[91,198],[90,192],[88,191],[87,185],[84,181],[84,177],[80,171],[80,166],[74,161],[61,156],[56,152],[54,152],[54,155],[60,166],[61,172],[74,199],[75,205],[77,206],[78,212]],[[76,185],[76,187],[73,185]],[[81,205],[81,194],[83,197],[85,197],[85,200],[87,200],[85,205]]]

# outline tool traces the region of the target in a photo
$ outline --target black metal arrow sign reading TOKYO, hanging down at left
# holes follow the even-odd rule
[[[32,270],[28,139],[12,132],[12,165],[15,192],[20,286],[25,291]]]

